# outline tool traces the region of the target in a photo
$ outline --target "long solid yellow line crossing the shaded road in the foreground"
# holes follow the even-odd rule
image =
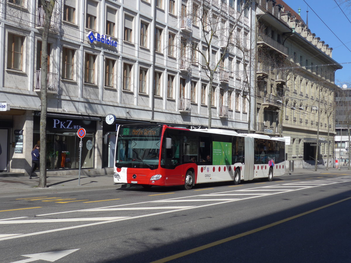
[[[241,234],[238,234],[238,235],[235,235],[235,236],[227,237],[227,238],[224,238],[222,240],[218,240],[218,241],[215,241],[215,242],[212,242],[212,243],[209,243],[209,244],[197,247],[197,248],[189,249],[189,250],[186,250],[184,252],[180,252],[178,254],[169,256],[169,257],[161,258],[161,259],[153,261],[151,263],[163,263],[163,262],[171,261],[171,260],[176,259],[176,258],[184,257],[184,256],[190,255],[192,253],[195,253],[195,252],[207,249],[207,248],[214,247],[216,245],[220,245],[220,244],[223,244],[223,243],[235,240],[235,239],[237,239],[239,237],[244,237],[244,236],[247,236],[247,235],[259,232],[261,230],[274,227],[276,225],[285,223],[287,221],[293,220],[295,218],[298,218],[298,217],[301,217],[301,216],[304,216],[304,215],[308,215],[308,214],[316,212],[316,211],[318,211],[320,209],[327,208],[327,207],[330,207],[331,205],[338,204],[338,203],[341,203],[341,202],[344,202],[344,201],[347,201],[347,200],[350,200],[350,199],[351,199],[351,197],[347,197],[347,198],[345,198],[343,200],[340,200],[340,201],[337,201],[337,202],[334,202],[334,203],[331,203],[331,204],[323,205],[322,207],[318,207],[318,208],[312,209],[310,211],[307,211],[307,212],[304,212],[304,213],[301,213],[301,214],[298,214],[298,215],[295,215],[295,216],[291,216],[291,217],[285,218],[283,220],[280,220],[280,221],[277,221],[277,222],[274,222],[274,223],[271,223],[271,224],[268,224],[268,225],[264,225],[263,227],[259,227],[259,228],[256,228],[256,229],[253,229],[253,230],[250,230],[250,231],[246,231],[244,233],[241,233]]]

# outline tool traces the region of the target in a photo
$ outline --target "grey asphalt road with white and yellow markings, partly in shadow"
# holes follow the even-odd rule
[[[1,262],[350,262],[350,186],[330,172],[2,197]]]

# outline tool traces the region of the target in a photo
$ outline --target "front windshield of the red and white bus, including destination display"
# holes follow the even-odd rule
[[[119,129],[116,167],[158,168],[162,125],[123,125]]]

